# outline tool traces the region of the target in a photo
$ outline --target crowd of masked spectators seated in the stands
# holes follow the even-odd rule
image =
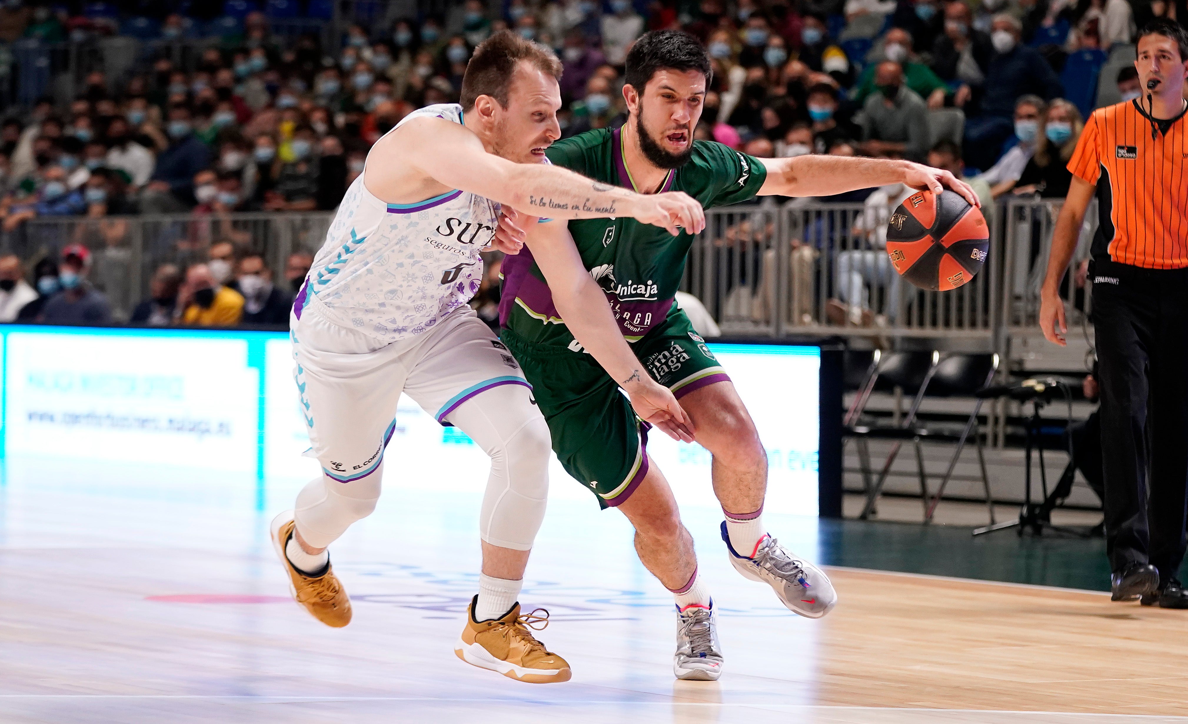
[[[248,11],[238,34],[196,45],[188,66],[159,53],[121,77],[90,74],[69,103],[46,97],[10,109],[0,125],[0,231],[43,217],[333,210],[369,146],[411,110],[456,101],[474,46],[501,28],[563,61],[564,135],[621,123],[632,42],[681,27],[706,44],[714,70],[697,138],[757,157],[946,164],[977,178],[986,202],[1057,197],[1093,107],[1092,94],[1066,100],[1062,77],[1086,85],[1078,63],[1097,74],[1151,18],[1188,23],[1183,0],[463,0],[437,15],[352,25],[341,46],[323,47],[316,33],[273,34],[268,15],[234,1]],[[194,19],[169,2],[126,5],[166,42],[194,34]],[[118,32],[86,7],[6,0],[0,43]],[[1133,69],[1121,68],[1117,91],[1135,97]],[[893,208],[902,191],[874,198]],[[211,247],[209,262],[157,269],[151,298],[131,318],[222,325],[280,309],[295,288],[234,246],[226,258]],[[20,260],[0,260],[0,320],[109,317],[87,281],[90,253],[71,249],[39,260],[27,278]],[[299,284],[303,273],[289,274],[301,266],[283,273]],[[858,286],[839,277],[847,313]]]

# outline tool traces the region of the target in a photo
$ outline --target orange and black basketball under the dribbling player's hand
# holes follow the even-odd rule
[[[981,210],[954,191],[917,191],[887,222],[895,271],[922,290],[947,292],[966,284],[986,262],[988,249]]]

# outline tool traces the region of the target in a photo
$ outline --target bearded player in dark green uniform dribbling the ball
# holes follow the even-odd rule
[[[903,160],[760,160],[721,144],[694,141],[709,74],[706,51],[691,36],[644,34],[627,55],[626,125],[558,141],[546,150],[549,160],[643,193],[684,191],[707,209],[754,196],[828,196],[895,183],[934,192],[949,186],[978,204],[969,186],[947,171]],[[574,203],[549,197],[530,202],[522,211],[542,217]],[[526,249],[504,260],[501,338],[532,385],[565,470],[604,508],[618,507],[627,516],[636,527],[639,559],[675,595],[676,677],[716,679],[722,656],[693,539],[668,482],[649,462],[647,425],[619,393],[621,385],[643,375],[672,390],[691,420],[695,440],[713,455],[714,493],[726,517],[721,535],[734,567],[771,585],[796,614],[826,615],[836,603],[828,577],[784,550],[763,527],[767,456],[754,424],[726,370],[674,304],[693,236],[672,236],[613,211],[568,224],[511,214],[505,231],[525,239]],[[571,263],[574,255],[581,256],[580,267]],[[567,274],[568,268],[589,274]],[[598,285],[609,305],[575,307],[555,299],[545,278],[554,286]],[[608,341],[608,335],[623,338]],[[623,354],[604,358],[613,344],[628,344],[638,367],[623,367],[623,360],[632,360]]]

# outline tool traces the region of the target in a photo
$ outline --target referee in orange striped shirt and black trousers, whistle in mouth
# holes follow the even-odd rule
[[[1056,221],[1040,326],[1064,344],[1060,281],[1095,193],[1089,278],[1113,601],[1184,609],[1188,33],[1155,20],[1138,36],[1135,68],[1143,95],[1094,110],[1068,164],[1073,184]]]

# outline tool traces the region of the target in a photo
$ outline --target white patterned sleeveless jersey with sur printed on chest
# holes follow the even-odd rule
[[[396,128],[424,116],[461,123],[462,107],[426,106]],[[339,324],[396,342],[432,329],[479,291],[479,250],[495,234],[499,204],[461,190],[390,204],[364,186],[366,173],[342,198],[295,311],[299,318],[316,297]]]

